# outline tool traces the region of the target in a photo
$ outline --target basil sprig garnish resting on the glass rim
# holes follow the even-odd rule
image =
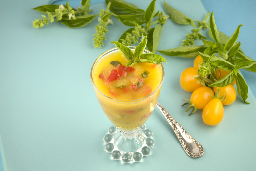
[[[123,45],[120,42],[113,41],[111,43],[114,43],[115,46],[122,52],[124,57],[128,59],[126,67],[132,66],[138,62],[149,62],[153,64],[160,64],[161,62],[166,63],[165,58],[159,54],[143,53],[147,45],[147,36],[145,36],[139,45],[135,48],[134,53],[129,47]]]

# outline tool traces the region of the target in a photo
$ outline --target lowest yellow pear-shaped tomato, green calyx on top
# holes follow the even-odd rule
[[[212,99],[204,108],[202,113],[203,122],[207,125],[219,124],[224,116],[224,108],[220,99]]]

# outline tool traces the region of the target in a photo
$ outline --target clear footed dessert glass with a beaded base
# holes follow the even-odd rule
[[[132,50],[133,46],[129,46]],[[101,54],[91,68],[91,82],[101,108],[108,119],[115,125],[108,129],[104,136],[105,149],[112,153],[115,160],[121,159],[125,163],[131,161],[139,162],[143,156],[150,154],[150,148],[154,145],[152,132],[146,129],[145,122],[153,112],[161,86],[164,80],[164,68],[160,63],[162,71],[161,81],[157,88],[149,95],[131,101],[116,100],[104,95],[95,85],[93,80],[94,71],[97,69],[97,62],[119,51],[117,48],[110,49]],[[150,53],[145,50],[144,53]]]

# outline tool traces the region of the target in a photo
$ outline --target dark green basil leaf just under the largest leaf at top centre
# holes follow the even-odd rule
[[[126,26],[134,26],[135,23],[141,25],[146,22],[144,14],[117,15],[116,18]]]

